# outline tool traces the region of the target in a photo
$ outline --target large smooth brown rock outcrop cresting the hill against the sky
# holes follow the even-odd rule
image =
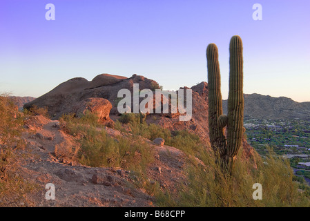
[[[52,119],[59,119],[66,113],[75,113],[72,108],[79,102],[90,97],[107,99],[113,106],[116,106],[117,92],[121,89],[128,89],[133,93],[133,84],[139,84],[139,90],[152,88],[156,81],[143,76],[133,75],[127,78],[117,75],[102,74],[97,75],[92,81],[82,77],[75,77],[50,92],[38,97],[32,102],[28,102],[23,107],[29,109],[32,106],[46,107]],[[117,112],[115,112],[117,113]]]

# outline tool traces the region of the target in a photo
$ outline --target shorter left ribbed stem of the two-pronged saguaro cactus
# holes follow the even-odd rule
[[[226,141],[223,128],[220,128],[217,119],[222,115],[222,94],[220,64],[218,50],[215,44],[209,44],[206,48],[209,89],[209,134],[213,150],[219,151],[220,156],[226,154]]]

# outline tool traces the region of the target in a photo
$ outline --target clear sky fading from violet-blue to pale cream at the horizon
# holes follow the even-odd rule
[[[240,35],[244,93],[310,102],[309,8],[309,0],[1,0],[0,93],[39,97],[102,73],[191,87],[207,81],[214,43],[226,99],[229,41]]]

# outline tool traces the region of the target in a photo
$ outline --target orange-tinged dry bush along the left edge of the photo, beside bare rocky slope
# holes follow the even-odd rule
[[[23,119],[8,95],[0,95],[0,206],[20,206],[17,202],[28,202],[26,194],[35,190],[19,175],[17,150],[26,146],[21,137]]]

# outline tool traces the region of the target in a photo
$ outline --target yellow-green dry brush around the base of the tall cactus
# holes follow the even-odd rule
[[[206,207],[282,207],[310,206],[310,198],[298,191],[293,182],[289,162],[270,151],[266,160],[258,162],[258,169],[241,160],[241,151],[232,175],[222,169],[213,153],[200,156],[206,166],[193,165],[188,173],[188,186],[171,198],[160,195],[159,206]],[[262,184],[262,200],[253,200],[253,184]]]

